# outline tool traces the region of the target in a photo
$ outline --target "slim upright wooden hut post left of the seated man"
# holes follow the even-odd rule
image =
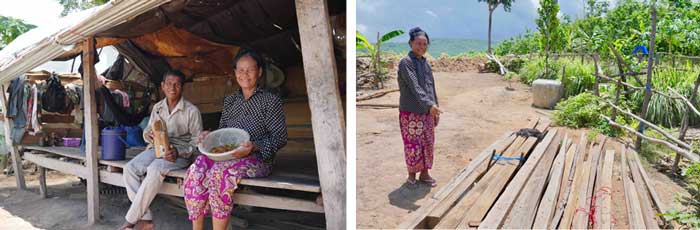
[[[87,170],[88,193],[88,223],[94,224],[100,219],[100,194],[98,191],[99,175],[97,171],[97,109],[95,103],[95,40],[89,37],[83,41],[83,103],[84,104],[84,129],[85,132],[85,166]]]

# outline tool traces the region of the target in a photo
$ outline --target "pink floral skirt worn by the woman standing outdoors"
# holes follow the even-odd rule
[[[401,137],[408,172],[417,173],[433,167],[435,119],[430,114],[400,111]]]

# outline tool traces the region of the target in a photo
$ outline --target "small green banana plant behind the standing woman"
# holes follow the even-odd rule
[[[357,39],[355,40],[355,49],[357,50],[367,50],[367,53],[370,56],[370,60],[372,62],[370,68],[372,69],[372,72],[374,72],[374,75],[376,76],[377,79],[375,79],[375,86],[379,86],[381,82],[383,81],[382,78],[382,61],[380,58],[380,53],[381,53],[381,46],[382,43],[387,42],[395,37],[398,37],[400,35],[404,34],[403,30],[394,30],[389,33],[386,33],[382,35],[381,37],[377,36],[377,42],[372,44],[367,40],[367,37],[360,33],[360,31],[356,31],[356,36]],[[379,35],[379,34],[377,34]]]

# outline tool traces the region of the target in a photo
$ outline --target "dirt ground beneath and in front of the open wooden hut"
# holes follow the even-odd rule
[[[25,169],[28,191],[18,191],[13,176],[0,175],[0,229],[117,229],[124,222],[130,202],[119,188],[100,195],[101,220],[87,224],[87,193],[75,176],[47,173],[48,197],[39,197],[38,173]],[[192,229],[179,197],[158,196],[151,204],[156,229]],[[234,216],[246,229],[322,229],[323,214],[236,207]],[[211,229],[207,217],[206,229]],[[234,229],[239,229],[234,227]]]

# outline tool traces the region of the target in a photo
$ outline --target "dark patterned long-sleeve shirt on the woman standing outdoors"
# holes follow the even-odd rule
[[[402,58],[398,81],[401,92],[399,110],[426,114],[430,107],[438,105],[433,71],[424,57],[418,58],[411,51]]]

